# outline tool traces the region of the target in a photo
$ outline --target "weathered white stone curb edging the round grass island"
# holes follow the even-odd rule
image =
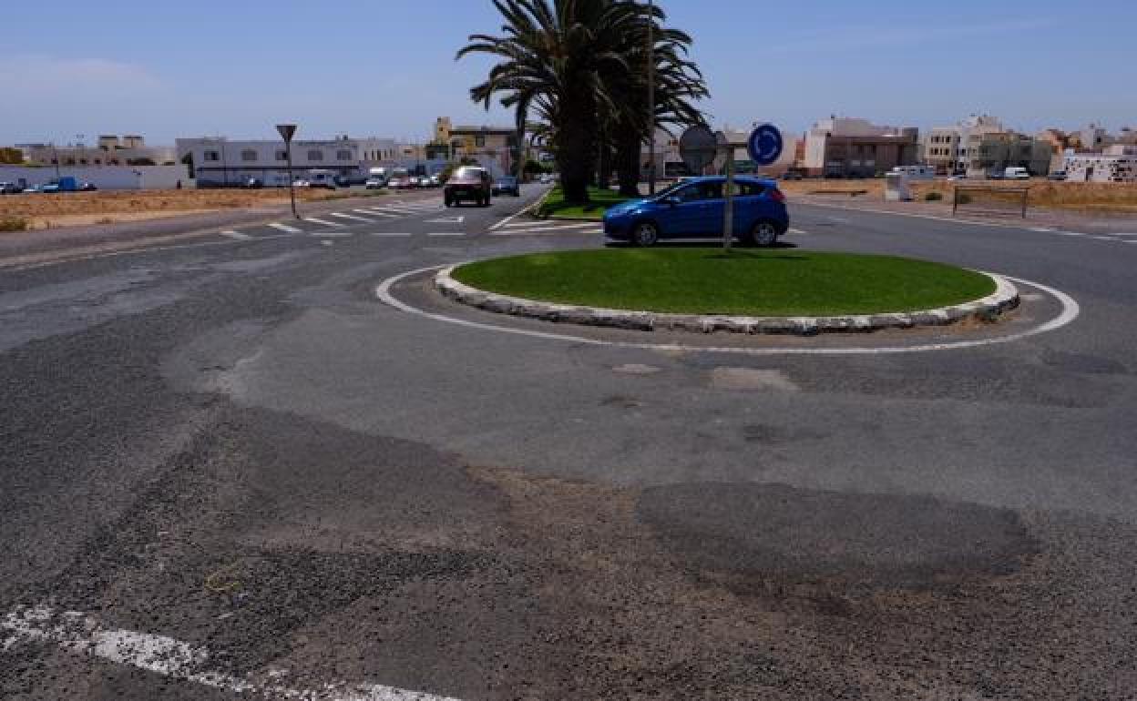
[[[719,315],[657,314],[626,309],[601,309],[539,302],[463,284],[453,277],[458,266],[443,268],[434,276],[434,287],[445,297],[471,307],[513,316],[606,326],[633,331],[686,331],[692,333],[742,333],[813,336],[820,333],[866,333],[885,328],[947,326],[966,319],[989,320],[1019,306],[1019,291],[1007,279],[982,273],[995,281],[995,292],[973,302],[890,314],[848,315],[831,317],[746,317]]]

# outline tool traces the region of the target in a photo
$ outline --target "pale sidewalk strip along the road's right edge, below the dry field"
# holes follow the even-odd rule
[[[862,211],[938,217],[958,222],[996,224],[1004,226],[1045,227],[1062,231],[1109,234],[1137,231],[1137,217],[1118,215],[1090,215],[1065,209],[1031,207],[1027,217],[1018,215],[982,215],[960,211],[952,215],[951,202],[886,202],[873,197],[849,197],[845,194],[787,194],[790,205],[815,205]]]

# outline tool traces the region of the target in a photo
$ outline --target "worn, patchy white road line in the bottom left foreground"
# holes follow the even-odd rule
[[[16,608],[0,619],[0,631],[9,633],[0,643],[0,652],[26,643],[50,642],[75,654],[97,657],[116,665],[144,669],[242,696],[301,701],[458,701],[382,684],[337,681],[325,683],[319,689],[304,690],[219,671],[205,671],[202,668],[210,657],[205,648],[165,635],[107,628],[98,619],[84,614],[56,611],[43,606]]]

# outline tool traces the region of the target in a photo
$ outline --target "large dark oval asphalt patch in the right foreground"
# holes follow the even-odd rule
[[[1009,509],[764,484],[653,487],[637,512],[681,567],[789,582],[931,586],[1018,570],[1037,550]]]

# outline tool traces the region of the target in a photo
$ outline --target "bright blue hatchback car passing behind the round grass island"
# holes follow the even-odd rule
[[[609,208],[604,215],[608,239],[653,245],[661,239],[722,236],[725,177],[695,177],[642,200]],[[750,245],[773,245],[789,228],[786,195],[774,181],[735,178],[735,236]]]

